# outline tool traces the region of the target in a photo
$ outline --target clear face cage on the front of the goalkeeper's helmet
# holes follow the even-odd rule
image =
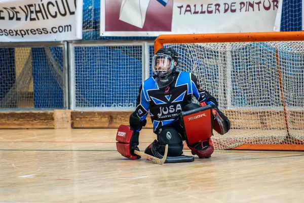
[[[152,59],[152,70],[157,76],[163,77],[169,75],[174,68],[174,60],[171,56],[155,55]]]

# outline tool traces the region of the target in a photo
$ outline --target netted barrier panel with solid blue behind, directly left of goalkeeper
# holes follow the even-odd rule
[[[75,46],[75,108],[134,110],[142,65],[142,45]]]

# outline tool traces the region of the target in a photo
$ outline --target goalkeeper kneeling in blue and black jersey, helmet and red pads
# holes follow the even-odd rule
[[[167,163],[193,161],[183,154],[183,141],[193,155],[209,158],[214,151],[212,129],[224,134],[230,129],[229,119],[219,111],[216,99],[198,85],[192,73],[179,72],[178,54],[172,48],[161,48],[153,57],[154,76],[145,80],[137,96],[136,110],[130,115],[130,125],[121,125],[117,136],[126,142],[117,143],[118,151],[130,159],[138,150],[139,132],[150,114],[157,139],[144,153],[162,158],[168,144]],[[192,103],[192,97],[199,104]]]

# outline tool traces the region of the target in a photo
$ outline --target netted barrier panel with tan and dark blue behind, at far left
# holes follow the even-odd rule
[[[0,47],[0,109],[61,109],[62,47]]]

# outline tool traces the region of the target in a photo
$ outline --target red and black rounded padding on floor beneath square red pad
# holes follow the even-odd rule
[[[199,158],[210,158],[214,151],[212,140],[209,138],[201,142],[188,146],[193,155],[198,155]]]

